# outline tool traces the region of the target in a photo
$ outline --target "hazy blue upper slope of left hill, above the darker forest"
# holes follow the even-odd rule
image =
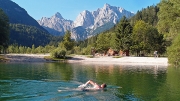
[[[11,0],[0,0],[0,8],[3,9],[3,11],[9,17],[10,23],[35,26],[42,29],[43,31],[47,31],[43,27],[41,27],[24,8],[21,8],[18,4],[14,3]]]

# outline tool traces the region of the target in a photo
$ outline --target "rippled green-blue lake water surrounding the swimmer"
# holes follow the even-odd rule
[[[82,91],[87,80],[105,90]],[[0,101],[178,101],[180,68],[67,63],[0,63]]]

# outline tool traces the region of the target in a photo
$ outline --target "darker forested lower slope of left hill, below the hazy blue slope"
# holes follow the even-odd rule
[[[31,47],[33,44],[37,46],[45,46],[50,43],[53,38],[49,33],[34,27],[23,24],[10,24],[10,44]]]

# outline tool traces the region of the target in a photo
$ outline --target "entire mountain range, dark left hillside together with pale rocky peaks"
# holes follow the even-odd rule
[[[50,18],[42,17],[36,21],[24,8],[11,0],[0,0],[0,8],[7,14],[13,27],[10,32],[10,44],[17,43],[24,46],[37,43],[38,46],[41,42],[45,45],[50,42],[52,35],[63,36],[67,30],[71,31],[74,40],[84,40],[112,28],[123,16],[129,18],[134,15],[121,7],[105,4],[96,11],[84,10],[75,21],[63,18],[59,12]],[[29,32],[32,28],[36,32]],[[23,39],[17,37],[22,35]],[[26,40],[29,41],[25,42]]]

